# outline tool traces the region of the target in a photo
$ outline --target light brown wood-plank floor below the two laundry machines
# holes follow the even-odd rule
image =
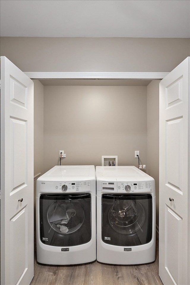
[[[34,262],[30,285],[163,285],[158,275],[158,239],[155,262],[108,265],[97,261],[81,265],[42,265]]]

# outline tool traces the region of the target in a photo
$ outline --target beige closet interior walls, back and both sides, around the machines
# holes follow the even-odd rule
[[[118,165],[137,166],[134,150],[140,150],[140,164],[146,164],[156,183],[158,225],[160,80],[147,87],[43,86],[33,81],[34,173],[43,169],[42,161],[43,172],[58,165],[59,150],[66,153],[62,165],[95,166],[101,165],[102,155],[118,155]]]

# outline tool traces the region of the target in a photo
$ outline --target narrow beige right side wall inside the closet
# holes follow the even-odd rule
[[[155,179],[156,224],[159,225],[159,83],[147,86],[147,173]]]

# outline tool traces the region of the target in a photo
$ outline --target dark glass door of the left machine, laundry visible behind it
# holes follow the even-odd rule
[[[51,246],[76,246],[91,240],[90,194],[42,194],[40,240]]]

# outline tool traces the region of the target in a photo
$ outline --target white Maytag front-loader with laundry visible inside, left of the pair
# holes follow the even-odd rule
[[[40,263],[96,259],[94,165],[55,166],[37,179],[36,243]]]

